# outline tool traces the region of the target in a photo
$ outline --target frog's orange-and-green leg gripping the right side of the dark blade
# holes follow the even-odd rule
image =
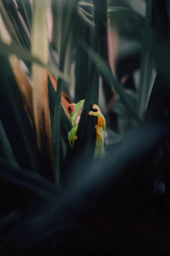
[[[104,150],[104,131],[106,128],[106,121],[105,117],[102,115],[99,107],[94,104],[93,109],[97,109],[97,112],[90,111],[89,115],[98,116],[98,123],[95,126],[96,128],[96,146],[94,151],[94,158],[102,157],[103,156],[103,150]]]

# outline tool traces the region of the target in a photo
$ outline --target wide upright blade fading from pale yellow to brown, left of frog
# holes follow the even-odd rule
[[[49,60],[49,41],[47,9],[48,0],[34,0],[34,15],[32,27],[32,54],[45,64]],[[49,177],[56,180],[53,162],[52,139],[50,128],[50,113],[48,99],[48,75],[47,70],[37,64],[32,65],[33,76],[33,108],[37,143],[44,159]]]

